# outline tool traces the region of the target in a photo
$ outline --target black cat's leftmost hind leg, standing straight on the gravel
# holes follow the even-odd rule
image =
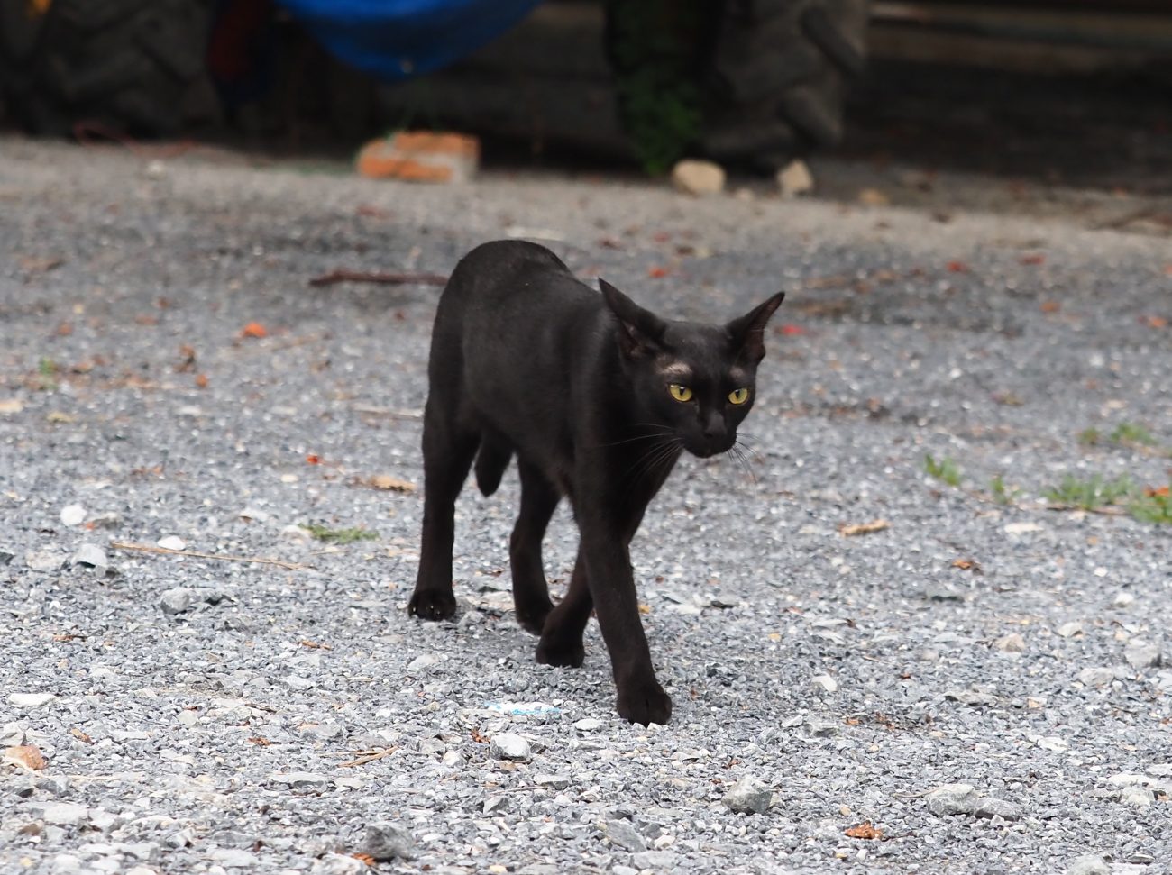
[[[420,573],[407,608],[423,620],[456,614],[451,589],[456,498],[481,440],[479,430],[461,424],[452,406],[432,392],[423,411],[423,534]]]

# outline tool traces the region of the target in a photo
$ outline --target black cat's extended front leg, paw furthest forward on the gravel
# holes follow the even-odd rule
[[[628,539],[598,517],[584,514],[578,525],[586,580],[602,638],[611,652],[619,716],[643,725],[665,724],[672,717],[672,698],[655,679],[650,649],[639,618]]]

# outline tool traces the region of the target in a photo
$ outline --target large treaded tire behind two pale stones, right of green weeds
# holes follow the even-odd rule
[[[703,151],[774,169],[837,144],[865,66],[868,0],[727,0],[709,66]]]

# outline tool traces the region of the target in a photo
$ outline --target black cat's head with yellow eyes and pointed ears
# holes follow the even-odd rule
[[[764,333],[778,292],[723,326],[674,322],[643,309],[605,280],[599,288],[615,316],[624,369],[643,424],[663,428],[688,452],[707,458],[736,443],[752,408]]]

